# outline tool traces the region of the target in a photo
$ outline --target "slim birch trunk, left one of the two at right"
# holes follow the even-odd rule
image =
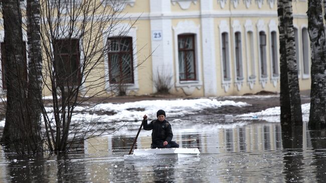
[[[280,40],[280,107],[282,129],[302,126],[301,99],[298,82],[292,1],[277,2]]]

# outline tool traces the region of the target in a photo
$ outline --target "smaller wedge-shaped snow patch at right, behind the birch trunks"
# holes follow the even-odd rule
[[[302,120],[304,122],[309,121],[310,103],[302,104],[301,109],[302,109]],[[267,122],[280,122],[280,117],[279,117],[280,114],[281,114],[280,107],[273,107],[273,108],[268,108],[266,110],[263,110],[261,112],[252,112],[248,114],[236,115],[235,118],[239,120],[258,119],[258,120],[265,120]]]

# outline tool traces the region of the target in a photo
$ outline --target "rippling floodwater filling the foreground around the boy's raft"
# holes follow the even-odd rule
[[[199,157],[129,160],[136,134],[84,141],[66,155],[17,157],[0,152],[1,182],[323,182],[326,131],[281,133],[279,123],[251,123],[227,129],[175,129],[181,147]],[[149,148],[141,131],[136,148]]]

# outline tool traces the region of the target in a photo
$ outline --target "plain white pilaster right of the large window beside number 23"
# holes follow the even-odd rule
[[[201,27],[203,46],[203,73],[204,73],[204,95],[217,95],[216,58],[215,58],[215,36],[214,19],[212,13],[213,0],[201,2]]]

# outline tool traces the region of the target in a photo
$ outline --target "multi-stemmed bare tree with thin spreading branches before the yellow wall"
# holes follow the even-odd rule
[[[133,23],[121,24],[125,19],[114,7],[120,4],[112,1],[105,6],[107,2],[46,0],[41,4],[43,79],[52,93],[51,105],[42,109],[44,136],[56,153],[67,150],[69,141],[101,135],[107,129],[99,118],[74,118],[84,115],[85,108],[76,110],[77,106],[133,82],[139,63],[132,58],[135,40],[126,36]],[[113,32],[118,34],[110,39]],[[113,83],[109,88],[105,87],[108,79]]]

